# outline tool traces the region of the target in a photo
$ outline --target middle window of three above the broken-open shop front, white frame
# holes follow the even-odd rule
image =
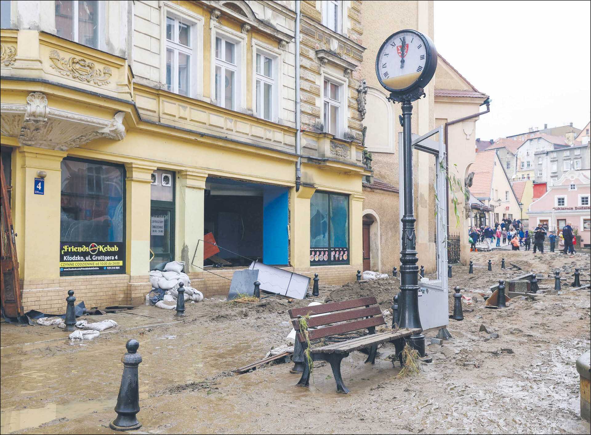
[[[216,38],[216,102],[218,106],[234,110],[236,102],[236,42]]]

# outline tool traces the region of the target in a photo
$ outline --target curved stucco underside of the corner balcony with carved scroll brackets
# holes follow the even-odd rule
[[[112,119],[80,115],[48,106],[41,92],[27,96],[27,104],[0,103],[3,136],[18,138],[22,145],[67,151],[94,139],[125,138],[124,112]]]

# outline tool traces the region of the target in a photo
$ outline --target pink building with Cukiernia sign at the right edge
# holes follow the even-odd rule
[[[591,178],[589,171],[569,171],[548,187],[528,210],[530,228],[547,224],[561,230],[567,223],[581,236],[584,247],[591,246]]]

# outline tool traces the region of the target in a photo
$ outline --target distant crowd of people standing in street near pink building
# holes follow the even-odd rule
[[[533,231],[525,230],[521,224],[521,220],[505,218],[501,223],[495,223],[493,227],[490,225],[482,225],[480,227],[470,227],[468,233],[468,241],[470,242],[470,252],[473,250],[478,252],[476,243],[486,243],[486,250],[492,250],[493,244],[495,247],[500,247],[501,244],[510,244],[511,249],[518,251],[523,247],[526,251],[531,249],[532,240],[534,245],[534,254],[536,251],[544,253],[545,237],[550,240],[550,252],[554,252],[556,248],[556,240],[558,238],[558,248],[563,254],[569,253],[571,256],[576,252],[574,245],[576,244],[576,237],[573,233],[571,223],[564,225],[558,235],[554,231],[548,231],[547,224],[538,224]],[[496,244],[495,244],[496,242]]]

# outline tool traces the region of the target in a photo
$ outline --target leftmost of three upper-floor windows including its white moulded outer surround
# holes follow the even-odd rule
[[[203,17],[164,2],[161,9],[161,81],[166,90],[203,95]]]

